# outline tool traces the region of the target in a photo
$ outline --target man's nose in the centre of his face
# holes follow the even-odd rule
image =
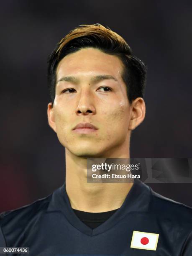
[[[77,115],[95,115],[96,110],[93,103],[93,97],[87,90],[80,93],[79,102],[76,109]]]

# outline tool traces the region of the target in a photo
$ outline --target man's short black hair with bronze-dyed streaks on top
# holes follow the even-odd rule
[[[118,56],[123,63],[122,79],[127,87],[128,100],[131,103],[137,97],[143,97],[146,83],[146,66],[133,55],[130,46],[117,33],[97,24],[80,25],[61,39],[48,59],[48,87],[51,102],[54,103],[56,86],[56,68],[59,61],[68,54],[82,48],[95,48]]]

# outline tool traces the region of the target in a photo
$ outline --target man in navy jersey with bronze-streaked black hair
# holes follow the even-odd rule
[[[131,131],[145,117],[145,65],[115,32],[83,25],[56,46],[48,75],[48,120],[65,147],[66,182],[3,213],[0,246],[29,247],[33,256],[191,256],[190,207],[138,179],[87,183],[87,158],[129,158]]]

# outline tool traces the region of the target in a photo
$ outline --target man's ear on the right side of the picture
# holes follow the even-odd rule
[[[140,123],[143,122],[146,113],[146,106],[143,98],[139,97],[133,100],[131,104],[131,119],[129,130],[134,130]]]

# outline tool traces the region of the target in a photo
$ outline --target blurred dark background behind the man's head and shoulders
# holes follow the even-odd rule
[[[46,117],[46,59],[80,24],[109,26],[148,66],[146,120],[133,133],[131,157],[192,157],[191,14],[191,1],[1,1],[0,212],[64,182],[64,148]],[[151,187],[192,206],[192,184]]]

